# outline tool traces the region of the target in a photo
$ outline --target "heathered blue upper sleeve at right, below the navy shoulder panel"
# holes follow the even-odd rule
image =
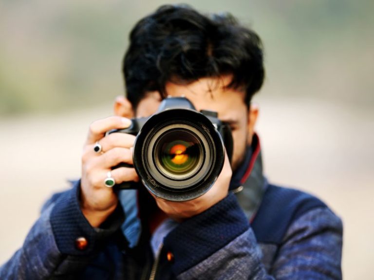
[[[288,229],[272,266],[285,279],[342,279],[342,223],[328,208],[306,212]]]

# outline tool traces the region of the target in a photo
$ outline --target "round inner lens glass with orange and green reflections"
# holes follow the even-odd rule
[[[204,160],[202,143],[191,131],[175,129],[156,143],[155,165],[170,179],[186,179],[199,171]]]

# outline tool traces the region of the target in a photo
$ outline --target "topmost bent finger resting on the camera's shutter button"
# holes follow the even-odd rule
[[[131,125],[131,120],[123,117],[112,116],[106,119],[97,120],[90,125],[87,143],[93,144],[104,137],[105,133],[111,129],[127,128]]]

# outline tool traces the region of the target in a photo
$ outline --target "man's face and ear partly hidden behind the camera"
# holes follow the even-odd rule
[[[248,107],[244,103],[244,92],[226,88],[230,82],[230,75],[202,78],[187,85],[169,82],[166,84],[166,92],[172,97],[186,97],[198,111],[202,109],[216,111],[220,120],[230,123],[234,140],[231,167],[235,170],[243,160],[246,145],[252,140],[256,118],[251,118]],[[150,116],[156,112],[160,102],[159,92],[149,92],[139,102],[136,117]]]

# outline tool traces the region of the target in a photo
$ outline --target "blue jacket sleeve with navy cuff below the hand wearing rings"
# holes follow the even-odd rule
[[[0,267],[0,279],[43,280],[67,276],[85,266],[100,240],[110,236],[122,223],[120,206],[103,228],[93,228],[79,208],[79,181],[69,191],[57,194],[43,208],[22,247]],[[75,239],[85,237],[84,250]]]

